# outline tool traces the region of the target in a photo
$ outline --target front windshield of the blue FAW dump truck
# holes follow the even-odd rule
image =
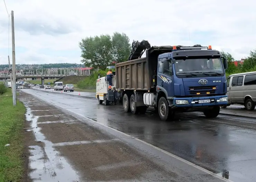
[[[222,61],[220,58],[213,59],[186,59],[175,60],[176,74],[203,73],[223,74]]]

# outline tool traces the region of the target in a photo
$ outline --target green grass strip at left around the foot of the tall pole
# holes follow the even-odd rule
[[[21,155],[26,108],[18,100],[13,107],[11,89],[0,95],[0,103],[0,182],[18,182],[24,172]]]

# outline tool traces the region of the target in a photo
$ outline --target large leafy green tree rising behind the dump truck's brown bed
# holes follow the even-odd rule
[[[86,37],[79,42],[81,57],[86,67],[106,69],[113,61],[127,61],[131,46],[125,33]]]

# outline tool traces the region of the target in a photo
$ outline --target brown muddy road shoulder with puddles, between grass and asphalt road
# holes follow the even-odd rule
[[[175,173],[65,110],[21,92],[27,107],[23,181],[176,181]]]

